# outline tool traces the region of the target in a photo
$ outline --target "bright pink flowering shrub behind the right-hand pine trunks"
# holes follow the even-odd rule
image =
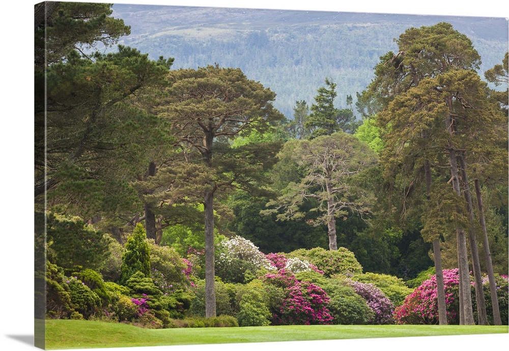
[[[458,269],[444,269],[445,304],[447,322],[459,323]],[[403,305],[394,311],[394,320],[399,324],[438,324],[438,298],[436,275],[430,276],[412,294],[405,298]]]

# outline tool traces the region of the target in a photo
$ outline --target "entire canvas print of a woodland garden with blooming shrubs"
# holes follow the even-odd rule
[[[509,332],[507,18],[34,15],[35,346]]]

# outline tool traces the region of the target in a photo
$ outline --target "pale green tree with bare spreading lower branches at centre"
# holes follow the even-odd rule
[[[282,190],[283,195],[267,204],[274,208],[264,213],[282,210],[277,215],[279,219],[302,218],[304,213],[299,206],[305,200],[314,200],[316,206],[310,211],[318,216],[310,224],[327,225],[329,249],[336,250],[336,218],[349,212],[359,216],[370,213],[374,199],[355,183],[355,178],[374,166],[377,157],[365,143],[344,132],[288,146],[296,146],[291,157],[304,176],[298,183],[290,182]]]

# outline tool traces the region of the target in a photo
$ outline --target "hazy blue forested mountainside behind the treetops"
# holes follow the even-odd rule
[[[214,63],[238,67],[275,91],[275,106],[290,118],[296,100],[314,102],[325,77],[337,84],[337,107],[346,107],[347,94],[355,101],[355,93],[373,78],[379,57],[396,50],[393,39],[409,27],[453,24],[481,55],[482,77],[501,63],[508,46],[504,18],[149,5],[113,9],[114,17],[131,26],[122,44],[153,59],[175,57],[174,69]]]

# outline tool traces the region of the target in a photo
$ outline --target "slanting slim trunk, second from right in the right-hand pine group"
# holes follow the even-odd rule
[[[468,239],[470,241],[470,254],[472,257],[472,267],[473,267],[474,281],[475,281],[475,301],[476,301],[476,305],[477,305],[477,324],[485,326],[488,324],[488,319],[486,317],[486,301],[484,299],[483,277],[482,277],[482,272],[480,270],[479,253],[477,250],[477,238],[475,235],[475,225],[474,225],[474,211],[473,211],[473,207],[472,207],[472,193],[470,193],[470,185],[468,184],[467,161],[466,161],[465,151],[463,151],[458,158],[460,160],[460,166],[461,166],[463,196],[465,197],[465,201],[467,202],[468,220],[470,222],[470,231],[468,234]]]

